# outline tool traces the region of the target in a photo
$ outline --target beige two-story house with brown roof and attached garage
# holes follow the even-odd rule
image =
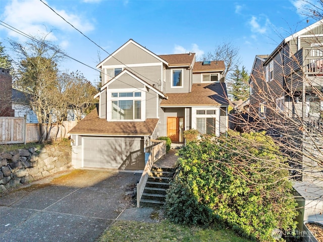
[[[74,167],[143,169],[151,139],[184,142],[184,130],[228,128],[223,61],[156,55],[130,39],[97,68],[98,107],[70,131]]]

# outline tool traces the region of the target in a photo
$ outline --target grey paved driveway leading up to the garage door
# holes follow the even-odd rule
[[[140,176],[74,170],[0,195],[0,241],[94,241],[132,207]]]

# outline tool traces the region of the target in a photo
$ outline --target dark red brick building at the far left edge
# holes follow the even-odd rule
[[[14,117],[11,108],[12,76],[8,69],[0,68],[0,117]]]

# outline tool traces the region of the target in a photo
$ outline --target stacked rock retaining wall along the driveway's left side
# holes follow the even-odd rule
[[[70,169],[71,148],[47,146],[0,154],[0,192]]]

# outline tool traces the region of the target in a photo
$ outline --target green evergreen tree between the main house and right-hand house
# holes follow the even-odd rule
[[[240,70],[236,65],[233,73],[230,75],[230,81],[232,88],[229,90],[235,101],[243,100],[246,101],[249,98],[249,75],[244,66]]]

